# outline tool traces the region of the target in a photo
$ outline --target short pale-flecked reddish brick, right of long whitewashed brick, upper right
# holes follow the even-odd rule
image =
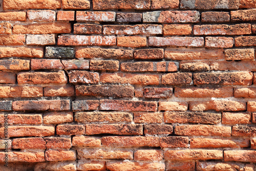
[[[205,37],[206,48],[232,48],[232,37]]]

